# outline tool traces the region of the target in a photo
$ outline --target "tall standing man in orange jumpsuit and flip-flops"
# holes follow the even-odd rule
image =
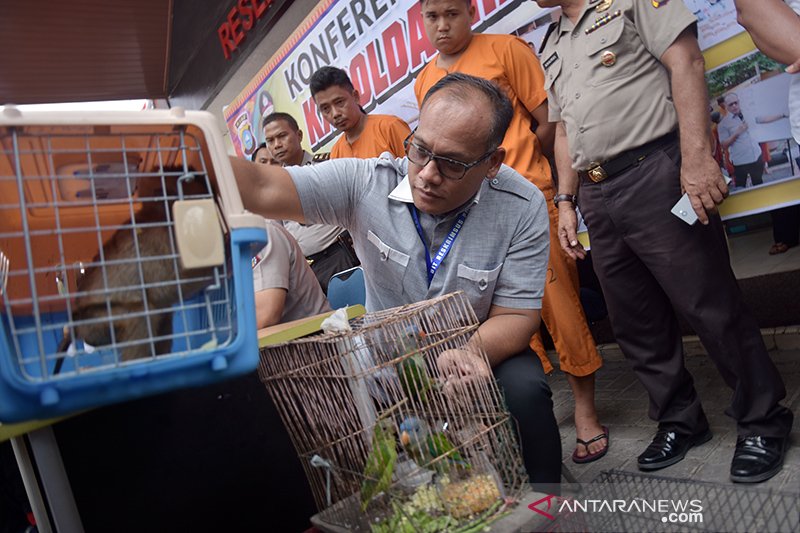
[[[550,259],[542,302],[542,319],[559,353],[561,370],[575,396],[575,429],[578,446],[573,461],[599,459],[608,450],[608,430],[597,419],[594,405],[594,373],[602,365],[600,355],[581,307],[575,261],[559,245],[558,210],[550,165],[544,154],[552,153],[555,127],[547,119],[547,93],[539,60],[525,41],[511,35],[473,34],[475,7],[470,0],[422,0],[425,32],[438,54],[420,71],[414,85],[417,102],[437,81],[451,72],[464,72],[497,83],[514,105],[514,118],[503,147],[504,163],[536,185],[548,204]],[[542,360],[545,372],[553,370],[541,335],[531,348]]]

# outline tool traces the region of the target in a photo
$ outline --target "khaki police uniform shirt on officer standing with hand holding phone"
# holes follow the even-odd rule
[[[662,54],[696,22],[680,0],[589,0],[562,15],[540,57],[549,117],[562,121],[573,168],[607,161],[675,130]]]

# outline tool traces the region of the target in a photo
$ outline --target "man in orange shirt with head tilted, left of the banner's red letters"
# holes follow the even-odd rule
[[[328,124],[342,131],[331,148],[331,158],[366,159],[390,152],[404,157],[403,141],[411,130],[393,115],[369,115],[361,107],[360,95],[347,73],[322,67],[311,76],[311,96]]]

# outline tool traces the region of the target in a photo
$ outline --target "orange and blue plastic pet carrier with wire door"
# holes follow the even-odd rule
[[[0,109],[0,420],[255,368],[266,235],[214,118]]]

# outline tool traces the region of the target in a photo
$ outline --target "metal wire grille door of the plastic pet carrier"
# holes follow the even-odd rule
[[[137,138],[132,143],[136,147],[129,151],[129,137],[133,136]],[[149,138],[150,145],[142,147],[142,138]],[[174,221],[169,206],[175,200],[213,198],[196,138],[182,130],[167,135],[146,131],[135,135],[42,135],[9,128],[2,150],[3,156],[12,162],[14,173],[0,175],[0,181],[14,182],[17,194],[4,195],[0,200],[0,211],[5,212],[0,218],[18,217],[20,226],[16,229],[4,225],[0,242],[22,242],[25,253],[22,257],[4,254],[4,261],[10,266],[0,285],[4,289],[5,323],[25,380],[63,379],[73,373],[117,366],[124,360],[154,357],[165,353],[165,344],[173,346],[172,355],[186,355],[203,344],[198,342],[200,338],[211,335],[221,344],[230,337],[234,321],[226,315],[229,310],[235,311],[235,306],[229,297],[228,265],[182,269],[171,231]],[[23,175],[21,160],[25,157],[44,158],[46,166],[39,175]],[[85,161],[85,165],[67,164],[59,169],[56,163],[59,159]],[[198,171],[189,167],[189,160],[200,161]],[[146,170],[142,168],[145,164],[153,166]],[[64,170],[70,167],[71,175],[65,175]],[[88,188],[65,198],[69,193],[65,194],[64,189],[76,177]],[[189,185],[191,182],[194,183]],[[49,194],[36,198],[31,192],[34,189]],[[109,210],[127,220],[117,217],[106,222],[105,213]],[[31,214],[45,211],[50,213],[51,224],[42,226],[31,220]],[[76,216],[76,211],[83,218],[79,225],[69,220]],[[143,215],[146,212],[158,215]],[[119,239],[122,245],[130,249],[109,250],[114,235],[122,237]],[[94,259],[69,260],[76,239],[96,243]],[[35,253],[35,249],[53,245],[57,247],[56,253],[47,254],[47,263],[42,262],[42,255]],[[82,284],[92,273],[96,274],[96,282]],[[128,279],[116,279],[120,276]],[[51,286],[43,287],[44,284]],[[27,290],[21,290],[21,295],[15,297],[8,290],[9,285],[25,286]],[[194,298],[198,288],[205,289],[203,297]],[[133,298],[142,303],[141,307],[116,308],[118,303],[130,299],[127,295],[132,292],[141,294]],[[148,305],[152,301],[148,293],[174,295],[180,321],[175,331],[168,331],[171,328],[163,325],[167,320],[163,315],[173,310]],[[80,305],[81,300],[100,309],[92,316],[76,318],[76,303]],[[32,312],[15,313],[15,308],[30,308]],[[64,308],[66,315],[48,314],[47,310],[52,308]],[[124,322],[119,316],[123,310]],[[188,323],[188,317],[197,311],[203,317],[199,329],[195,327],[197,324]],[[144,331],[128,338],[115,338],[120,328],[128,324]],[[160,330],[156,329],[157,324]],[[110,350],[98,357],[96,347],[61,342],[64,338],[78,339],[76,329],[81,328],[96,330],[98,337],[107,334]],[[172,344],[179,338],[181,343]],[[57,349],[53,349],[54,340]],[[174,349],[178,344],[180,347]],[[65,358],[72,364],[58,365],[59,372],[54,374],[55,363]]]

